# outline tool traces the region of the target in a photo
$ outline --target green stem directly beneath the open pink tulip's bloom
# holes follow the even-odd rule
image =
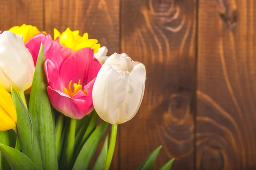
[[[74,153],[74,144],[76,136],[76,119],[70,120],[70,131],[68,133],[67,141],[67,166],[70,166],[71,159]]]

